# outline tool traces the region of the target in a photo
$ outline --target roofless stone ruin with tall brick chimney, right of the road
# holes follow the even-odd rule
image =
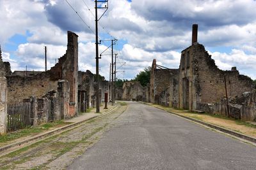
[[[182,50],[179,69],[157,69],[156,60],[153,60],[148,101],[164,103],[167,106],[184,110],[220,113],[221,107],[223,111],[223,106],[227,105],[226,89],[228,100],[232,98],[245,100],[244,92],[252,92],[255,95],[253,80],[239,74],[236,67],[232,67],[230,71],[218,69],[211,55],[203,45],[197,42],[197,29],[198,25],[193,25],[192,43],[191,46]],[[251,103],[248,105],[254,107],[254,112],[250,110],[251,116],[247,118],[253,120],[256,119],[256,107],[253,103],[255,99],[253,95],[249,98],[247,97],[247,101]],[[214,105],[223,99],[226,102],[222,105]],[[240,115],[239,118],[247,114],[241,110],[241,107],[238,111],[234,107],[234,103],[233,105],[230,103],[228,109],[224,108],[225,114],[227,115],[227,110],[232,110],[230,115],[236,110],[239,112],[237,113]]]

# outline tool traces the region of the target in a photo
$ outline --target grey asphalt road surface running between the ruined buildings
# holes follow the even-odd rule
[[[140,103],[68,169],[256,169],[256,147]]]

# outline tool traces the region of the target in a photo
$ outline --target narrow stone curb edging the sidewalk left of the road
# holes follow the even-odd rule
[[[88,121],[92,120],[93,118],[97,119],[97,118],[103,117],[105,115],[108,115],[108,113],[115,110],[116,108],[117,108],[117,106],[111,108],[109,111],[106,111],[102,115],[95,115],[94,117],[88,118],[86,120],[81,120],[80,122],[75,122],[73,124],[69,124],[69,125],[65,125],[63,127],[60,127],[58,129],[53,129],[52,131],[45,132],[44,134],[38,134],[37,136],[33,136],[29,139],[24,139],[23,141],[19,141],[17,143],[12,143],[10,145],[2,146],[2,147],[0,147],[0,154],[3,153],[6,150],[9,150],[11,148],[15,148],[15,147],[20,146],[20,145],[24,145],[24,144],[29,143],[31,141],[36,141],[36,140],[39,141],[40,139],[47,138],[49,136],[52,136],[53,134],[57,134],[58,132],[66,131],[66,130],[72,128],[72,127],[76,127],[77,125],[83,124],[84,122],[88,122]]]

